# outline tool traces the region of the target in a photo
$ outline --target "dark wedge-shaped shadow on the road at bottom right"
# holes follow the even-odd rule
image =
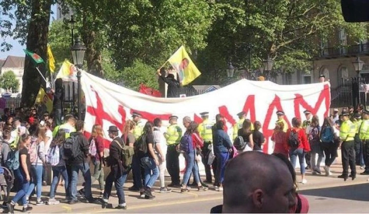
[[[369,184],[299,191],[299,193],[301,193],[302,195],[339,198],[356,201],[369,201],[368,192]]]

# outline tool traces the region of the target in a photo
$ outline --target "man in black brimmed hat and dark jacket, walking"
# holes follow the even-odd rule
[[[109,137],[113,139],[109,147],[109,160],[110,173],[105,180],[105,190],[102,198],[103,208],[107,206],[109,196],[111,194],[111,188],[114,186],[118,195],[119,204],[116,209],[127,209],[125,192],[123,186],[125,185],[128,170],[123,167],[122,160],[120,159],[122,153],[122,147],[125,146],[123,140],[118,137],[118,128],[116,126],[109,127]]]

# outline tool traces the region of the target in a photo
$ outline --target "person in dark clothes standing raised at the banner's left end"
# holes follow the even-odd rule
[[[55,91],[51,89],[51,94],[54,96],[53,100],[53,111],[54,118],[56,121],[56,126],[61,125],[61,115],[63,114],[63,101],[64,101],[64,88],[63,88],[63,80],[61,78],[56,79],[55,81]]]

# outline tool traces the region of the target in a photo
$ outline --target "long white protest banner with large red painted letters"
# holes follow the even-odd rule
[[[270,81],[242,79],[203,95],[170,99],[150,97],[86,72],[82,72],[81,84],[86,99],[86,136],[89,136],[94,124],[102,125],[106,147],[111,141],[107,133],[109,126],[115,125],[122,130],[125,121],[132,118],[133,111],[140,112],[145,121],[162,118],[164,127],[168,126],[171,115],[178,116],[178,124],[182,126],[185,116],[200,123],[200,112],[208,111],[210,120],[220,113],[227,120],[229,134],[238,119],[236,114],[244,111],[251,121],[261,122],[260,131],[267,139],[264,151],[271,153],[269,138],[277,120],[277,110],[285,112],[289,125],[293,117],[304,119],[303,111],[306,109],[313,115],[317,114],[322,123],[324,117],[328,116],[330,106],[329,82],[279,85]]]

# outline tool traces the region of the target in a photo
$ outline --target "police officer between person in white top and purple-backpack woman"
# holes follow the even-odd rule
[[[168,187],[178,187],[180,186],[179,180],[179,152],[178,145],[180,142],[180,138],[182,137],[182,129],[177,124],[177,116],[169,117],[170,126],[167,129],[167,132],[164,133],[164,137],[167,140],[167,170],[170,174],[170,178],[172,182],[168,185]]]

